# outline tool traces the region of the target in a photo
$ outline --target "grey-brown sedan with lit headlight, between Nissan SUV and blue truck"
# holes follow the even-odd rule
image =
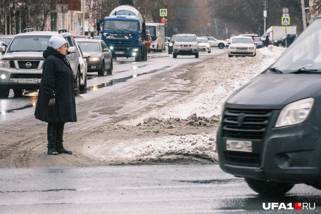
[[[90,55],[88,72],[98,72],[98,76],[113,73],[112,51],[103,40],[77,40],[83,53]]]

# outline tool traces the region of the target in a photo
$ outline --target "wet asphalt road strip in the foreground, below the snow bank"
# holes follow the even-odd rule
[[[321,192],[296,185],[262,198],[218,165],[29,168],[0,171],[3,214],[320,213]],[[316,203],[312,210],[264,210],[263,203]],[[313,206],[311,207],[313,208]]]

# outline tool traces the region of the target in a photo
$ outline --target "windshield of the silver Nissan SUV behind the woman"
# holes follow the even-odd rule
[[[44,51],[47,49],[47,46],[50,46],[50,38],[51,36],[38,35],[16,36],[8,47],[8,52]]]

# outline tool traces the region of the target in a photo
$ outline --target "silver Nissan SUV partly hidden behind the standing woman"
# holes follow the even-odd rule
[[[23,95],[24,89],[39,89],[45,61],[43,52],[50,45],[49,39],[54,35],[66,39],[68,46],[66,58],[74,72],[79,89],[84,90],[85,74],[81,73],[79,53],[71,34],[66,29],[59,29],[58,32],[25,31],[17,34],[7,49],[0,46],[0,51],[3,53],[0,60],[0,97],[8,97],[11,88],[15,96]]]

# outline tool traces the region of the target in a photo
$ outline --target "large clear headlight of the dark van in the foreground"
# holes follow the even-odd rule
[[[284,107],[277,118],[275,127],[285,127],[302,123],[308,117],[314,98],[299,100]]]

